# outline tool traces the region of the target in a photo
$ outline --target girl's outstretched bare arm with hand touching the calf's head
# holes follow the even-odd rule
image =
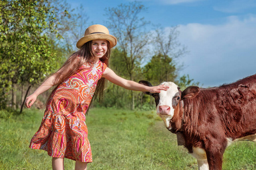
[[[134,90],[134,91],[148,91],[151,93],[159,93],[160,90],[167,90],[168,86],[159,85],[159,86],[144,86],[143,84],[136,83],[131,80],[126,80],[118,76],[114,73],[113,70],[109,69],[109,67],[106,68],[104,73],[102,74],[103,78],[108,79],[110,82],[117,84],[118,86],[121,86],[123,88],[126,88],[128,90]]]

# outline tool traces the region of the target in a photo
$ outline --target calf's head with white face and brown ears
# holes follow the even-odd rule
[[[152,86],[150,82],[141,80],[139,83],[146,86]],[[183,92],[173,82],[163,82],[168,86],[167,91],[161,91],[160,93],[151,94],[150,92],[144,92],[144,94],[151,95],[155,98],[156,114],[164,121],[164,125],[168,130],[171,130],[171,121],[174,117],[179,116],[180,112],[183,112],[183,99],[192,99],[199,94],[200,88],[191,86],[186,88]]]

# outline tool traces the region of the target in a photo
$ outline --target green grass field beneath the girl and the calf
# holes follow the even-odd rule
[[[0,169],[51,169],[46,151],[28,148],[43,111],[25,109],[0,120]],[[177,146],[155,111],[90,109],[86,117],[93,163],[88,169],[197,169],[196,159]],[[256,169],[256,142],[236,142],[224,154],[223,169]],[[75,162],[65,159],[65,169]]]

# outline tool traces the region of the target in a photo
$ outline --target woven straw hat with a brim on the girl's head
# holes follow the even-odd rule
[[[81,48],[85,42],[97,39],[108,40],[110,43],[110,48],[117,45],[117,38],[109,34],[109,29],[103,25],[96,24],[91,25],[85,30],[84,37],[77,41],[76,46],[77,48]]]

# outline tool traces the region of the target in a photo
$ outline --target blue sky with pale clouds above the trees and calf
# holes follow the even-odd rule
[[[105,8],[133,0],[68,0],[84,7],[88,23],[106,24]],[[236,82],[256,74],[256,0],[142,0],[141,15],[151,24],[176,27],[177,40],[188,50],[179,76],[201,87]],[[89,25],[86,25],[88,27]],[[85,28],[86,29],[86,28]],[[111,32],[110,32],[111,34]]]

